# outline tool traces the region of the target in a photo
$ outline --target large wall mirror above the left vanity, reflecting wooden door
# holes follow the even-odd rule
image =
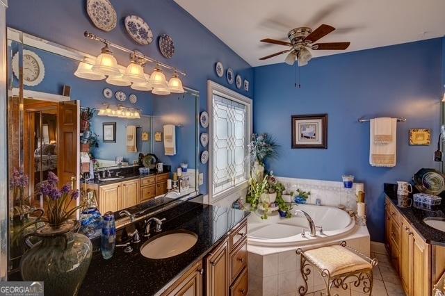
[[[115,177],[120,170],[137,176],[144,171],[139,170],[141,167],[154,165],[145,170],[153,174],[162,163],[163,172],[169,172],[168,179],[173,179],[173,173],[186,166],[188,190],[156,195],[153,199],[161,198],[153,206],[199,193],[199,92],[186,88],[184,94],[156,96],[74,75],[83,65],[92,65],[92,58],[8,28],[10,272],[17,270],[26,250],[20,239],[26,231],[19,234],[19,239],[15,235],[40,215],[34,209],[45,210],[38,188],[51,172],[58,176],[60,186],[71,183],[83,192],[81,199],[87,199],[90,195],[86,191],[99,188],[98,179],[110,172]],[[165,145],[165,132],[175,137],[174,153]],[[134,140],[129,140],[129,135]],[[147,163],[147,158],[155,161]],[[81,199],[73,201],[72,206]]]

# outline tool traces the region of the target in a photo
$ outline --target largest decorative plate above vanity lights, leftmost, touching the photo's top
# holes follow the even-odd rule
[[[87,0],[86,12],[97,28],[109,32],[115,28],[118,16],[108,0]]]

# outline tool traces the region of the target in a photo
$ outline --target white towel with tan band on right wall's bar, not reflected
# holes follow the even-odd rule
[[[395,167],[397,151],[397,119],[391,118],[391,141],[376,143],[374,121],[369,124],[369,164],[373,167]]]

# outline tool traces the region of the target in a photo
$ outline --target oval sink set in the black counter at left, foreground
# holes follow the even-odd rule
[[[140,254],[150,259],[163,259],[186,252],[197,242],[197,235],[191,231],[169,231],[147,240],[140,247]]]

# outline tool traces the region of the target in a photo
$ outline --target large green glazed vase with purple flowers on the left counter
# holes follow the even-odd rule
[[[39,194],[46,201],[47,213],[26,224],[22,230],[40,222],[44,226],[26,234],[24,240],[31,246],[20,260],[24,281],[44,281],[49,295],[76,295],[88,271],[92,256],[90,239],[76,233],[79,222],[74,214],[83,204],[72,206],[79,197],[78,190],[70,184],[58,189],[57,176],[49,172],[47,181],[42,182]],[[33,245],[29,238],[41,240]],[[54,264],[56,263],[56,264]]]

